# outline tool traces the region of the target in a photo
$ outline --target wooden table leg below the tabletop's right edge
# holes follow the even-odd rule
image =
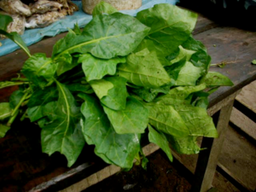
[[[195,168],[195,183],[192,183],[192,191],[206,192],[212,187],[212,179],[224,143],[225,133],[228,130],[233,103],[234,100],[231,100],[228,105],[212,116],[218,131],[218,138],[204,137],[202,140],[201,148],[206,149],[201,150],[198,156]]]

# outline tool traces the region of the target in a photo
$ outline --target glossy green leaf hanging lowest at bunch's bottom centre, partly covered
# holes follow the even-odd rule
[[[131,168],[140,150],[140,136],[135,133],[117,134],[100,102],[94,96],[79,96],[85,100],[81,107],[85,117],[83,133],[90,138],[90,144],[96,145],[96,154],[104,154],[108,158],[107,162],[111,160],[117,166]]]

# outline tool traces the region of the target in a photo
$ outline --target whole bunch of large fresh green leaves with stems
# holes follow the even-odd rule
[[[84,148],[109,164],[130,169],[147,162],[142,134],[178,153],[201,150],[197,137],[218,137],[207,115],[207,97],[232,85],[208,72],[211,57],[191,32],[197,15],[170,4],[157,4],[136,17],[99,3],[84,27],[69,29],[52,57],[29,54],[16,33],[5,32],[11,19],[1,15],[0,33],[29,55],[21,69],[26,77],[0,83],[20,89],[0,104],[0,137],[17,116],[41,127],[43,152],[64,154],[72,166]]]

